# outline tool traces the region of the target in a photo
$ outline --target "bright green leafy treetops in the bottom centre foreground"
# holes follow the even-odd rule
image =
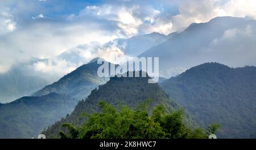
[[[183,123],[184,110],[167,113],[163,104],[158,104],[148,113],[148,103],[143,102],[135,109],[126,105],[119,108],[100,102],[101,111],[89,115],[88,121],[75,128],[68,123],[68,135],[61,131],[61,138],[92,139],[156,139],[156,138],[207,138],[202,128],[190,128]],[[211,125],[209,131],[217,131],[217,125]]]

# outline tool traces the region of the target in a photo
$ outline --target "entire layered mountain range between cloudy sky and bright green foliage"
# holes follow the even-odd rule
[[[85,121],[81,114],[97,111],[101,100],[133,107],[148,98],[151,106],[160,102],[167,110],[184,107],[200,126],[220,123],[219,138],[254,137],[256,71],[245,65],[256,65],[255,33],[255,20],[219,17],[168,36],[151,33],[118,38],[103,47],[79,45],[56,58],[85,65],[49,85],[27,68],[48,59],[33,58],[0,75],[0,100],[9,102],[0,103],[0,138],[32,138],[41,131],[48,138],[57,138],[63,123],[80,126]],[[148,76],[99,78],[98,58],[89,62],[84,54],[113,45],[127,55],[159,57],[160,77],[168,79],[160,78],[159,87],[148,84]],[[18,100],[10,102],[13,98]]]

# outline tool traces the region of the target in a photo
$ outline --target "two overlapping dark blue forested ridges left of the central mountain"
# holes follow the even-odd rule
[[[63,76],[57,82],[25,96],[0,105],[0,138],[32,138],[44,127],[71,113],[82,98],[86,98],[109,78],[99,78],[98,58]],[[110,64],[110,63],[109,63]]]

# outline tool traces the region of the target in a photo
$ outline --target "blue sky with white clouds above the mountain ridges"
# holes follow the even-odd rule
[[[255,0],[1,0],[0,73],[31,57],[52,58],[81,44],[100,44],[151,32],[165,35],[216,16],[256,19]],[[109,53],[112,50],[104,53]],[[67,62],[37,64],[63,71]]]

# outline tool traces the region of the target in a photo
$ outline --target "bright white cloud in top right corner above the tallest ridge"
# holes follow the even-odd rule
[[[177,7],[179,14],[171,18],[171,31],[181,31],[191,23],[208,22],[217,16],[249,16],[256,19],[254,0],[179,0]]]

